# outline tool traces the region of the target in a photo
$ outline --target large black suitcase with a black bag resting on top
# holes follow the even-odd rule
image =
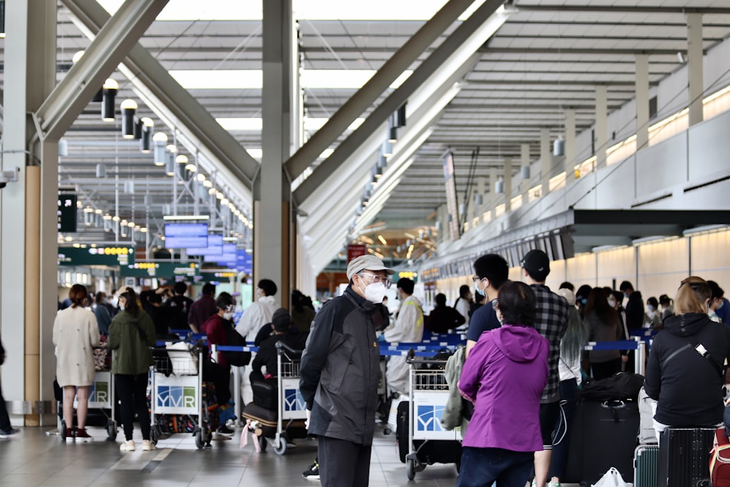
[[[572,423],[567,482],[598,482],[611,467],[634,479],[639,405],[634,401],[580,401]],[[563,480],[563,479],[561,479]]]

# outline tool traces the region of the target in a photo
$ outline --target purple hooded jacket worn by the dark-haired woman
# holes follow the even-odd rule
[[[539,408],[549,348],[548,340],[526,326],[481,334],[458,383],[462,396],[476,398],[464,446],[542,450]]]

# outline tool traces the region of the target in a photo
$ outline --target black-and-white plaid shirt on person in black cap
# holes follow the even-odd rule
[[[562,296],[550,291],[546,285],[533,284],[530,287],[537,297],[535,329],[550,342],[548,384],[540,397],[540,402],[545,404],[560,399],[558,361],[560,361],[560,340],[568,328],[568,302]]]

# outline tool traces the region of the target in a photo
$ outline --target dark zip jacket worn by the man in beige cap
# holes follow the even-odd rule
[[[375,329],[387,320],[382,304],[366,301],[350,287],[317,313],[299,380],[312,410],[310,434],[372,445],[380,380]]]

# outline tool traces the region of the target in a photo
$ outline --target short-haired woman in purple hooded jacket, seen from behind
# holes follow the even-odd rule
[[[548,383],[550,343],[534,329],[537,300],[529,285],[507,282],[492,306],[502,327],[480,335],[458,383],[474,414],[457,487],[488,487],[495,480],[524,487],[534,452],[542,450],[540,395]]]

